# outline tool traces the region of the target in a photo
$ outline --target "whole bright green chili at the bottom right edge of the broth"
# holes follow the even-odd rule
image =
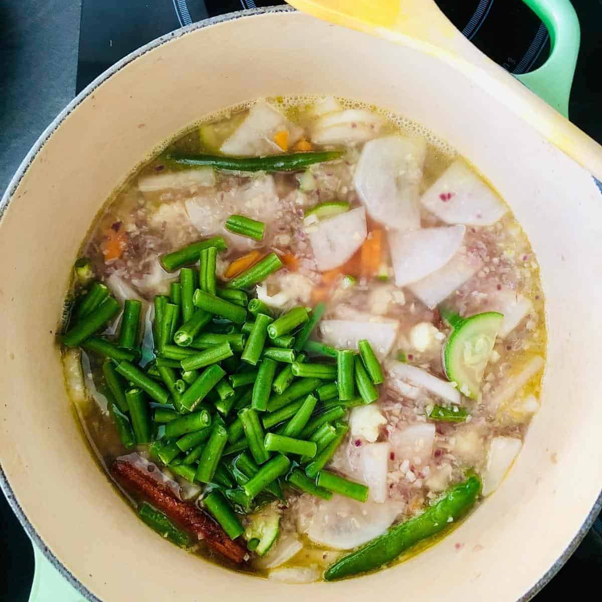
[[[371,539],[357,550],[346,554],[330,565],[324,579],[335,581],[359,573],[366,573],[393,562],[404,551],[424,539],[448,529],[464,517],[481,491],[481,480],[476,474],[469,476],[445,492],[444,497],[418,517],[390,527],[385,533]]]

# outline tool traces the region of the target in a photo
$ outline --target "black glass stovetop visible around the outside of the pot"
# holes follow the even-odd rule
[[[61,10],[57,0],[6,0],[0,13],[8,16],[17,10],[39,13],[41,19],[54,18]],[[450,20],[485,54],[514,73],[526,72],[542,63],[547,55],[547,32],[521,0],[436,0]],[[75,3],[74,3],[75,4]],[[207,16],[229,13],[241,8],[279,4],[273,0],[82,0],[79,33],[76,91],[124,55],[182,25]],[[602,142],[602,0],[573,0],[582,27],[582,48],[569,105],[569,115],[589,135]],[[14,11],[10,13],[10,7]],[[17,9],[17,7],[19,7]],[[43,7],[40,10],[40,7]],[[57,13],[58,14],[58,13]],[[10,20],[9,20],[10,22]],[[58,22],[58,21],[57,21]],[[49,26],[53,25],[48,20]],[[11,42],[8,29],[8,43]],[[2,40],[0,40],[2,48]],[[9,47],[9,51],[14,50]],[[2,56],[2,52],[0,52]],[[8,55],[9,58],[11,55]],[[67,60],[65,58],[64,60]],[[0,76],[3,75],[0,61]],[[0,78],[0,84],[2,83]],[[0,95],[0,108],[3,95]],[[8,105],[8,103],[7,103]],[[2,112],[0,111],[0,113]],[[54,114],[56,111],[51,110]],[[10,114],[5,114],[7,119]],[[2,115],[0,114],[0,117]],[[0,125],[2,121],[0,119]],[[30,128],[33,134],[36,134]],[[2,128],[0,127],[0,135]],[[0,161],[1,163],[1,161]],[[0,184],[0,189],[2,185]],[[550,526],[553,528],[553,525]],[[520,551],[521,542],[517,542]],[[24,602],[28,599],[33,575],[33,554],[29,540],[0,495],[0,600]],[[526,559],[528,562],[528,558]],[[569,592],[594,592],[602,570],[602,523],[591,530],[571,559],[536,597],[537,602],[556,600]],[[504,576],[500,576],[504,578]],[[505,576],[509,578],[509,576]],[[579,590],[576,590],[579,584]],[[569,588],[571,588],[569,590]],[[586,594],[587,595],[587,594]],[[591,595],[591,594],[590,594]],[[61,602],[61,601],[57,601]],[[107,601],[110,602],[110,601]]]

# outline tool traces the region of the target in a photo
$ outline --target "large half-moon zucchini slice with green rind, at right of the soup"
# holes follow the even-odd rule
[[[460,393],[476,399],[504,316],[497,311],[472,315],[466,319],[457,315],[442,315],[453,327],[443,347],[445,374],[458,385]]]

